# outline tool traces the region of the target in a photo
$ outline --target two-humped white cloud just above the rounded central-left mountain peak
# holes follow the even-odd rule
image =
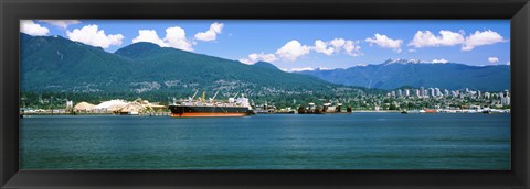
[[[155,43],[161,47],[193,51],[193,44],[186,37],[186,31],[179,26],[166,29],[166,37],[163,38],[160,38],[155,30],[139,30],[138,36],[132,38],[132,43],[138,42]]]

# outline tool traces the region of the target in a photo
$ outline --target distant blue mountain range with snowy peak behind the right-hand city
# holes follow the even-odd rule
[[[483,91],[510,89],[510,66],[469,66],[457,63],[428,63],[415,59],[388,59],[382,64],[360,65],[347,69],[298,71],[333,84],[378,89],[469,88]]]

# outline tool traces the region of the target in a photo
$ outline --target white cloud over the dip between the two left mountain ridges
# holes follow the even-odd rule
[[[72,41],[103,48],[108,48],[112,45],[119,46],[124,40],[121,34],[106,35],[105,31],[98,30],[97,25],[86,25],[72,32],[66,31],[66,36]]]

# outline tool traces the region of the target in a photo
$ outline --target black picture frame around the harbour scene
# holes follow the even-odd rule
[[[529,188],[528,0],[0,0],[0,188]],[[22,19],[510,19],[512,170],[19,170]]]

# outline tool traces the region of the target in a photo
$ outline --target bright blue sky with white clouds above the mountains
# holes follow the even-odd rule
[[[35,20],[21,21],[21,32],[61,35],[110,53],[151,42],[245,64],[268,60],[284,70],[389,58],[476,66],[510,62],[509,20]]]

